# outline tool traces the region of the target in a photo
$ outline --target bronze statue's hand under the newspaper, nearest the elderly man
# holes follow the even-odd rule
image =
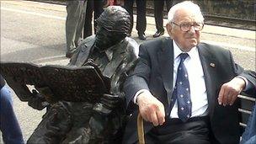
[[[100,114],[108,115],[118,104],[120,104],[120,97],[118,95],[104,93],[100,102],[95,104],[93,109]]]

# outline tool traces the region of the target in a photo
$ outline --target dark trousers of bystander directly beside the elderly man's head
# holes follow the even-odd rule
[[[166,4],[167,12],[172,7],[172,0],[154,0],[154,17],[156,21],[157,31],[164,31],[163,29],[163,5]]]

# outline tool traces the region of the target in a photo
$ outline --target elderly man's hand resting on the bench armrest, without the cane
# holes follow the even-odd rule
[[[219,104],[223,104],[224,106],[234,104],[237,95],[242,92],[245,84],[245,81],[241,77],[234,77],[228,83],[224,83],[219,93]]]

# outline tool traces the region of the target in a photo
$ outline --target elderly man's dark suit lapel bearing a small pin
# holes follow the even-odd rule
[[[216,76],[217,76],[217,63],[216,59],[212,57],[209,47],[204,44],[198,45],[200,61],[205,75],[205,86],[208,98],[208,108],[210,115],[213,114],[214,106],[216,104]]]

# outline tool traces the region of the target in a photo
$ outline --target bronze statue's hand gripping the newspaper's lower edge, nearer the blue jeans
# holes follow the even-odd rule
[[[29,106],[31,106],[33,109],[44,109],[49,103],[45,101],[45,98],[40,94],[37,93],[35,89],[32,90],[33,97],[29,98]]]

